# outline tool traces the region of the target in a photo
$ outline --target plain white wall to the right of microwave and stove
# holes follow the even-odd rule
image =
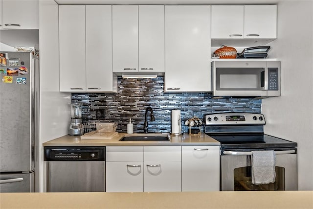
[[[281,96],[262,100],[265,133],[298,143],[298,190],[313,190],[313,1],[283,0],[270,56],[281,60]]]

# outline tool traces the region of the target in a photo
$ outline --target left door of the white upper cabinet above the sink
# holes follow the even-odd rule
[[[112,5],[113,72],[138,71],[138,5]]]

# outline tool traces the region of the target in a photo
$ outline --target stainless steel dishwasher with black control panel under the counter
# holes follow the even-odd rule
[[[45,192],[105,191],[105,147],[45,147]]]

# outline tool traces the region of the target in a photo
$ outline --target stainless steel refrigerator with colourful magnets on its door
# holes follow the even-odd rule
[[[0,52],[0,192],[35,190],[36,55]]]

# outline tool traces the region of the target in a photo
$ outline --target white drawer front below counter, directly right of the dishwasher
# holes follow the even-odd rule
[[[143,162],[143,146],[107,146],[106,162]]]

